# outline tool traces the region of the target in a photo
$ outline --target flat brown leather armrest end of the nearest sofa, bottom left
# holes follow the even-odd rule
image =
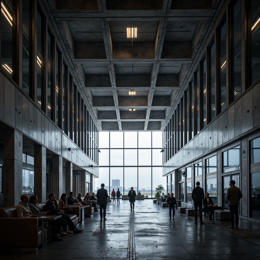
[[[37,218],[0,218],[1,248],[37,248],[42,243],[42,231]],[[13,236],[13,235],[15,236]]]

